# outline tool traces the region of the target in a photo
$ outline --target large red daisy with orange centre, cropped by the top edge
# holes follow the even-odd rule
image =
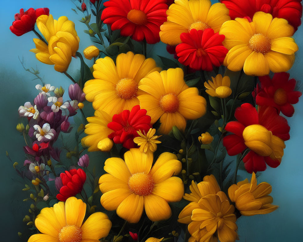
[[[144,38],[148,44],[160,41],[160,26],[166,21],[166,0],[110,0],[101,16],[112,30],[120,29],[123,36],[136,41]]]

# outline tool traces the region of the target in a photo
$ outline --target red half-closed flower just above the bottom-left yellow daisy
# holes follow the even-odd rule
[[[59,201],[66,201],[69,197],[73,197],[80,193],[83,188],[83,184],[86,180],[86,174],[82,169],[72,169],[60,174],[63,186],[60,188],[57,199]]]

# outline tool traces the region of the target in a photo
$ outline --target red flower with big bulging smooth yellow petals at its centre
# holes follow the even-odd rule
[[[226,131],[234,133],[223,138],[228,155],[237,155],[246,148],[251,149],[243,159],[249,173],[264,171],[266,164],[270,167],[280,165],[285,147],[283,140],[289,139],[287,120],[279,116],[273,107],[259,106],[257,112],[250,103],[238,107],[235,118],[238,121],[231,121],[225,126]],[[267,153],[266,145],[272,147],[272,154]]]

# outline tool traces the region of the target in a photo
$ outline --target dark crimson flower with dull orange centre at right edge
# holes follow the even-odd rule
[[[257,86],[256,104],[262,106],[273,106],[287,117],[291,117],[295,109],[291,104],[298,103],[301,92],[294,91],[295,79],[289,79],[286,72],[275,73],[269,76],[259,77],[261,85]]]

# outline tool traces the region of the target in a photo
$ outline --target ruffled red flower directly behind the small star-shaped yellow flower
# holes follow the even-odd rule
[[[108,138],[116,144],[122,144],[127,149],[136,148],[134,138],[139,136],[137,131],[147,133],[152,127],[151,117],[146,115],[146,112],[145,109],[140,109],[140,106],[136,105],[131,111],[123,110],[121,113],[115,114],[113,121],[107,125],[115,132],[112,132]]]

